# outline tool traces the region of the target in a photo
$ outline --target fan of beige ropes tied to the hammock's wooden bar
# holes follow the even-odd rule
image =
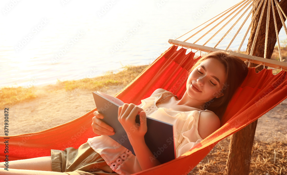
[[[272,14],[270,12],[271,8],[272,8]],[[243,0],[243,1],[239,2],[239,3],[237,3],[236,5],[230,7],[229,9],[225,10],[224,12],[220,13],[219,15],[217,15],[217,16],[213,17],[212,19],[208,20],[207,22],[205,22],[205,23],[197,26],[196,28],[190,30],[189,32],[183,34],[179,38],[189,34],[191,31],[199,28],[197,32],[195,32],[191,36],[187,37],[187,39],[185,39],[183,41],[183,42],[186,42],[187,40],[191,39],[192,37],[195,37],[196,35],[200,34],[200,32],[203,32],[203,30],[211,28],[207,32],[204,32],[204,34],[201,34],[201,36],[198,36],[199,37],[198,39],[195,38],[194,39],[195,42],[193,42],[193,44],[195,44],[195,43],[199,42],[203,37],[208,35],[210,32],[212,32],[212,31],[214,32],[215,28],[217,28],[219,25],[220,26],[222,25],[217,31],[215,31],[214,34],[212,34],[212,36],[208,40],[206,40],[202,44],[202,46],[205,46],[208,42],[210,42],[213,38],[215,38],[215,36],[217,36],[221,32],[221,33],[223,33],[222,34],[223,36],[222,37],[220,36],[220,40],[214,46],[214,48],[217,49],[216,47],[220,44],[220,42],[222,42],[222,40],[224,40],[224,38],[226,38],[228,33],[230,33],[230,31],[236,26],[236,24],[238,24],[239,21],[244,19],[243,16],[246,16],[245,20],[243,21],[241,26],[238,28],[238,30],[236,31],[235,35],[233,36],[233,38],[231,39],[231,41],[229,42],[228,46],[225,49],[225,50],[228,50],[228,48],[230,48],[232,42],[235,40],[236,37],[238,37],[239,32],[241,31],[243,26],[246,24],[247,20],[251,18],[251,23],[248,26],[247,31],[246,31],[243,39],[241,40],[241,43],[240,43],[240,45],[238,47],[238,50],[236,51],[237,53],[239,53],[241,48],[242,48],[242,46],[243,46],[243,44],[244,44],[244,42],[245,42],[245,40],[246,40],[246,38],[247,38],[247,36],[248,36],[248,34],[250,34],[250,29],[251,29],[252,24],[255,23],[256,17],[258,15],[258,13],[260,13],[260,15],[259,15],[259,22],[258,22],[257,28],[255,30],[255,36],[254,36],[253,43],[251,45],[251,50],[250,50],[250,53],[249,53],[249,55],[252,56],[253,52],[255,50],[255,44],[256,44],[256,41],[257,41],[257,38],[258,38],[258,35],[259,35],[259,29],[260,29],[259,26],[261,26],[263,18],[265,18],[265,17],[263,17],[263,15],[265,14],[266,15],[266,29],[265,29],[264,58],[266,58],[267,57],[267,48],[268,48],[269,26],[271,24],[270,23],[270,17],[271,17],[271,15],[273,15],[274,26],[275,26],[275,31],[276,31],[276,39],[277,39],[277,42],[278,42],[278,52],[279,52],[280,61],[278,61],[279,63],[276,63],[272,68],[275,67],[274,69],[279,68],[281,70],[286,70],[286,65],[285,65],[285,63],[282,60],[282,53],[281,53],[281,48],[280,48],[279,34],[278,34],[278,29],[277,29],[276,17],[275,17],[276,16],[275,15],[275,13],[276,13],[275,8],[277,8],[277,11],[278,11],[279,16],[280,16],[280,20],[281,20],[281,22],[283,24],[283,27],[284,27],[284,30],[285,30],[286,36],[287,36],[287,28],[286,28],[283,16],[286,19],[287,19],[287,17],[286,17],[286,14],[284,13],[284,11],[282,10],[282,8],[280,7],[280,4],[276,0],[274,0],[274,2],[273,2],[273,0],[264,0],[264,1],[263,0]],[[256,9],[256,11],[255,11],[255,9]],[[262,9],[262,10],[260,10],[260,9]],[[267,12],[265,12],[265,9],[267,9]],[[247,13],[248,11],[249,11],[249,13]],[[253,16],[251,17],[252,12],[254,12],[254,13],[253,13]],[[283,13],[283,15],[282,15],[282,13]],[[220,19],[222,19],[222,20],[220,20]],[[232,22],[233,20],[235,21],[234,23]],[[225,22],[225,21],[227,21],[227,22]],[[217,24],[214,24],[215,22],[217,22]],[[226,28],[228,26],[228,24],[231,24],[231,23],[232,23],[232,26],[230,28],[228,27],[227,32],[222,32],[224,30],[224,28]],[[174,43],[172,43],[172,44],[174,44]],[[205,52],[215,51],[215,50],[207,50],[206,51],[203,48],[193,48],[193,47],[188,47],[188,48],[196,49],[196,52],[198,50],[205,51]],[[250,63],[255,63],[254,57],[249,57],[249,58],[246,58],[245,60],[247,60],[249,62],[249,66],[250,66]],[[261,63],[263,63],[265,69],[267,68],[267,67],[265,67],[265,65],[270,67],[270,64],[267,64],[265,62],[261,62]],[[256,64],[262,65],[261,63],[256,63]],[[282,69],[282,66],[284,67],[284,69]]]

